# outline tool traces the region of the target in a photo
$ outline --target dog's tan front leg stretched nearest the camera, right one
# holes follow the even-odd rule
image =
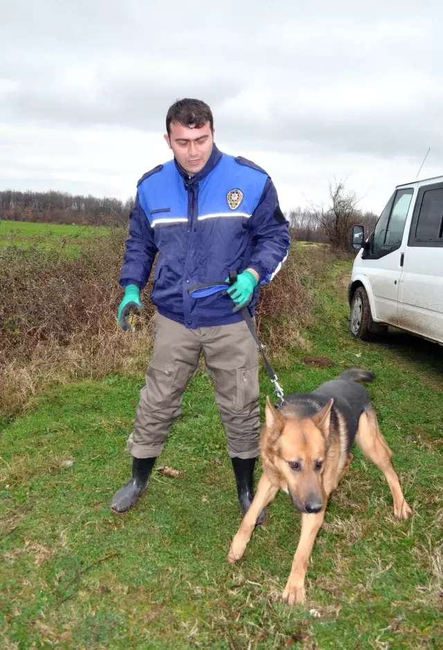
[[[325,510],[316,514],[302,514],[302,530],[296,554],[293,556],[291,573],[283,592],[283,600],[289,605],[305,602],[305,575],[316,536],[323,524]]]

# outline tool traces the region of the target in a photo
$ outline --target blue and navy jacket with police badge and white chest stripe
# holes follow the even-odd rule
[[[188,289],[224,281],[229,270],[247,267],[257,271],[264,284],[280,270],[288,250],[288,222],[271,178],[250,161],[214,146],[195,176],[189,177],[172,160],[140,179],[120,286],[142,289],[158,254],[151,298],[159,313],[188,328],[235,323],[243,316],[232,313],[228,295],[195,299]]]

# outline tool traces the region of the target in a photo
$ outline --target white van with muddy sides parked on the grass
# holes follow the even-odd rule
[[[353,227],[352,245],[352,335],[395,325],[443,344],[443,176],[397,186],[367,240]]]

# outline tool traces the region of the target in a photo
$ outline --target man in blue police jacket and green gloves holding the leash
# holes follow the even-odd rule
[[[260,451],[258,353],[242,313],[233,308],[251,300],[253,313],[260,283],[268,282],[287,257],[288,223],[266,172],[217,149],[208,105],[177,101],[166,129],[174,160],[138,182],[120,274],[125,296],[118,321],[127,329],[129,309],[143,309],[140,290],[158,254],[151,296],[157,308],[154,351],[127,441],[132,479],[114,495],[111,509],[129,510],[147,488],[203,352],[244,514],[253,499]],[[229,270],[238,272],[230,295],[198,300],[188,295],[195,284],[226,279]]]

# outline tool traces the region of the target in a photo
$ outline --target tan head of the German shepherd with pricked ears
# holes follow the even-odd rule
[[[323,463],[333,402],[329,400],[314,416],[301,419],[291,410],[275,410],[266,398],[264,457],[287,483],[293,506],[302,513],[316,513],[325,506]]]

